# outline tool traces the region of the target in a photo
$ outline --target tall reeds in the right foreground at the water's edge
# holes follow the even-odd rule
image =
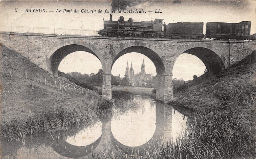
[[[134,159],[233,159],[244,157],[238,117],[229,111],[199,110],[188,119],[187,129],[175,140],[148,143],[146,150],[126,154],[118,149],[109,158]],[[254,154],[255,155],[255,154]],[[100,155],[94,155],[98,158]],[[104,157],[99,157],[104,158]],[[253,158],[251,155],[249,158]]]

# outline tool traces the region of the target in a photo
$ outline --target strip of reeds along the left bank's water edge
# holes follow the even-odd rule
[[[62,108],[61,106],[52,109],[36,111],[25,121],[12,120],[1,125],[1,140],[13,141],[22,140],[28,134],[41,132],[66,131],[72,124],[91,122],[96,118],[93,109],[98,107],[97,102],[87,107],[81,104],[73,108]],[[94,108],[95,107],[95,108]],[[20,134],[22,133],[22,135]]]

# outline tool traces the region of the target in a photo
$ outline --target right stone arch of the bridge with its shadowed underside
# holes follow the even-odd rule
[[[182,53],[188,53],[198,57],[206,66],[206,69],[212,71],[216,74],[220,71],[228,68],[227,59],[214,47],[204,44],[204,43],[195,43],[188,45],[180,49],[175,55],[171,63],[171,71],[173,69],[175,61]]]

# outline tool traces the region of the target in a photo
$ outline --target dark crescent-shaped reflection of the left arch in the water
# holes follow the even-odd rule
[[[78,158],[84,157],[86,155],[90,155],[94,149],[99,145],[101,136],[92,144],[86,146],[75,146],[71,145],[65,140],[65,136],[60,135],[60,139],[58,141],[54,141],[51,145],[52,149],[56,151],[58,154],[70,157],[70,158]]]

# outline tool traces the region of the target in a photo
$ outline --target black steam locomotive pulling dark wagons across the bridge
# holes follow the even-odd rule
[[[120,16],[117,21],[104,21],[104,29],[98,31],[101,36],[109,37],[148,37],[169,39],[217,39],[217,40],[256,40],[256,35],[250,35],[251,22],[240,23],[208,22],[206,33],[203,33],[203,22],[179,22],[163,24],[164,19],[154,21],[124,21]]]

